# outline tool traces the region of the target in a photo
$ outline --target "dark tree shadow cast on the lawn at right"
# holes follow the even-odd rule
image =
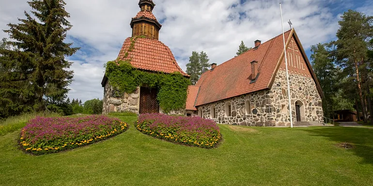
[[[314,136],[324,136],[336,143],[351,143],[348,149],[364,160],[362,163],[373,164],[373,129],[355,127],[322,127],[302,129]],[[347,149],[346,149],[347,150]]]

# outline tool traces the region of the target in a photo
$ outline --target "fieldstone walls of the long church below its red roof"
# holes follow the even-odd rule
[[[301,106],[301,120],[323,122],[322,101],[311,77],[289,74],[291,82],[293,121],[296,121],[295,102]],[[248,113],[246,102],[249,100]],[[231,103],[232,116],[226,117],[225,104]],[[215,105],[216,117],[211,117],[211,106]],[[220,100],[199,106],[202,116],[218,123],[243,126],[290,126],[287,84],[285,71],[279,70],[270,90],[262,90],[243,96]],[[303,113],[303,114],[302,114]]]

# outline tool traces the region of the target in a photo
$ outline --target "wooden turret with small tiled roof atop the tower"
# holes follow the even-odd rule
[[[140,12],[131,20],[132,37],[145,36],[149,39],[159,38],[159,30],[162,25],[158,23],[152,13],[155,4],[153,0],[140,0]]]

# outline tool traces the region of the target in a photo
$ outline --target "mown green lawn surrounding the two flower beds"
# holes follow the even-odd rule
[[[15,131],[0,137],[0,185],[373,185],[373,129],[219,127],[215,149],[161,141],[131,125],[109,140],[42,156],[20,151]]]

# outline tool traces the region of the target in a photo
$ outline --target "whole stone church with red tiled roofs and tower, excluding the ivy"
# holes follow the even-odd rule
[[[124,41],[119,59],[125,53],[131,65],[147,72],[180,72],[170,48],[159,41],[161,25],[152,13],[152,0],[140,0],[140,12],[131,20],[132,37],[138,38],[129,51],[131,38]],[[286,54],[292,110],[289,111],[285,55],[282,34],[204,72],[197,84],[189,86],[185,110],[167,114],[200,116],[217,123],[241,126],[290,126],[290,112],[295,123],[320,124],[324,114],[324,98],[320,84],[311,68],[295,29],[285,32]],[[132,93],[118,93],[104,87],[103,113],[131,111],[137,114],[163,113],[156,100],[154,87],[138,87]]]

